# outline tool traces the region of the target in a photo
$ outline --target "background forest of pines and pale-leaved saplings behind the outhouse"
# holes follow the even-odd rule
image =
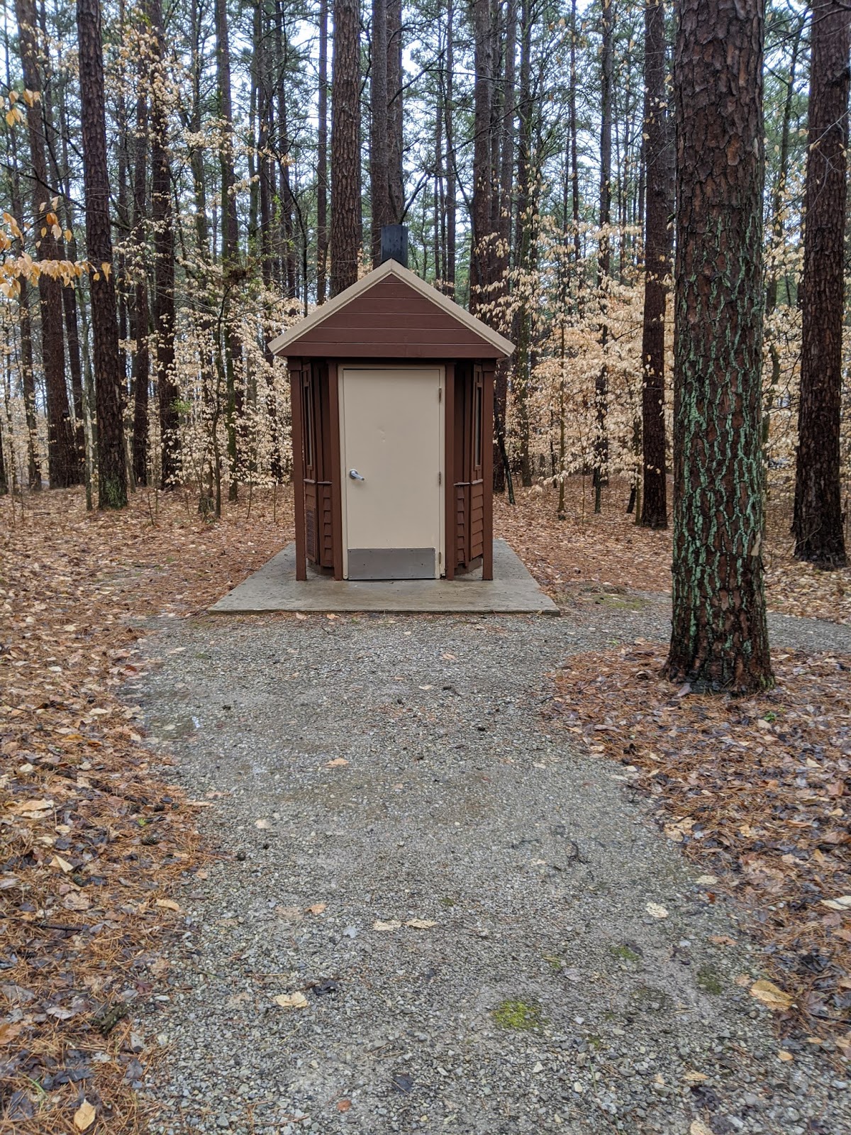
[[[189,482],[203,511],[220,513],[222,485],[234,499],[288,479],[288,384],[267,343],[366,271],[380,226],[403,221],[411,267],[517,344],[498,381],[497,490],[506,474],[509,493],[555,487],[563,514],[571,474],[583,510],[584,474],[597,506],[622,476],[641,519],[648,170],[657,195],[668,186],[665,258],[673,230],[669,14],[633,0],[83,8],[102,19],[93,194],[109,255],[84,230],[75,6],[3,9],[0,489],[85,482],[92,502],[99,428],[132,488]],[[804,6],[769,3],[764,439],[780,502],[797,444],[809,35]],[[664,85],[648,117],[654,51]],[[94,379],[104,284],[111,402]],[[669,355],[664,294],[662,312]],[[843,502],[850,417],[845,353]]]

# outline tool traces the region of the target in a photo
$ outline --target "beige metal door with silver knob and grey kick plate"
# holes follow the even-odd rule
[[[443,573],[443,367],[340,370],[343,574]]]

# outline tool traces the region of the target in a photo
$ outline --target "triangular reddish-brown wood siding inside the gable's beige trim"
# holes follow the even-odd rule
[[[481,359],[492,348],[426,296],[387,277],[286,350],[313,359]]]

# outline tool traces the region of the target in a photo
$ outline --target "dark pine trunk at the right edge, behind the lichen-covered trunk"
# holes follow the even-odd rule
[[[832,570],[848,563],[840,418],[851,8],[814,0],[811,28],[793,530],[795,556]]]

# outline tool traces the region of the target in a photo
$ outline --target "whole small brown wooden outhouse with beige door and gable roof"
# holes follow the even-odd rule
[[[395,260],[290,327],[296,575],[494,578],[494,370],[508,339]]]

